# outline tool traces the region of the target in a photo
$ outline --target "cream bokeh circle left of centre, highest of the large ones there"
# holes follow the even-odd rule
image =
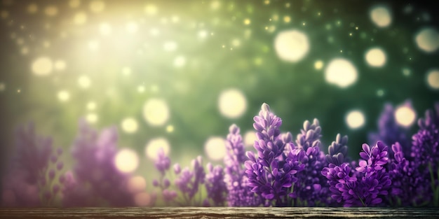
[[[149,99],[143,106],[143,117],[149,125],[164,125],[170,117],[168,104],[163,99]]]

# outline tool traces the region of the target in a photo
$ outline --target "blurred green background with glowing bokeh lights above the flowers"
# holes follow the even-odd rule
[[[3,157],[31,121],[69,151],[84,118],[115,125],[139,173],[154,143],[220,163],[206,142],[252,131],[264,102],[283,132],[318,118],[325,151],[340,133],[358,157],[384,103],[417,119],[439,100],[438,14],[419,1],[2,0],[0,18]]]

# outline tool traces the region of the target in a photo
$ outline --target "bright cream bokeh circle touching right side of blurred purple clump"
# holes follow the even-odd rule
[[[119,171],[131,173],[139,166],[139,156],[130,148],[122,148],[114,157],[114,164]]]

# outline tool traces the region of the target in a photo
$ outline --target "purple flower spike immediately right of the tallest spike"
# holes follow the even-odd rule
[[[320,174],[326,167],[326,158],[320,151],[321,128],[317,119],[313,123],[306,120],[304,129],[297,135],[297,147],[302,148],[306,154],[304,158],[304,171],[297,174],[297,191],[295,206],[318,206],[329,202],[329,185],[327,179]]]

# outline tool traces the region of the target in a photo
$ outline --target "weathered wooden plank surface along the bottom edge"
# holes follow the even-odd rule
[[[421,208],[0,208],[13,218],[439,218],[439,209]]]

